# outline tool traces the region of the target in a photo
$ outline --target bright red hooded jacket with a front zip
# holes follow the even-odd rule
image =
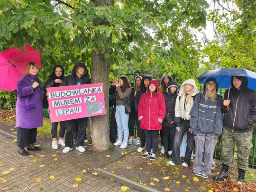
[[[158,92],[158,83],[152,79],[149,84],[155,84],[156,93],[147,90],[139,100],[138,117],[140,127],[146,130],[161,130],[162,122],[165,119],[164,95]]]

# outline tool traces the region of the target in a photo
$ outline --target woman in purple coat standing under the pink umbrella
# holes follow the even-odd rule
[[[33,145],[37,140],[37,127],[43,126],[42,85],[38,79],[38,71],[36,63],[28,63],[26,75],[19,79],[17,85],[17,146],[21,155],[29,155],[27,150],[41,150]]]

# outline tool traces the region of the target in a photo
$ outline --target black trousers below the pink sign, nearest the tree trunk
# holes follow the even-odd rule
[[[66,147],[73,148],[74,135],[76,135],[75,145],[77,147],[83,146],[87,120],[88,120],[87,117],[83,117],[79,119],[72,119],[72,120],[66,121],[67,122],[66,137],[65,137]]]

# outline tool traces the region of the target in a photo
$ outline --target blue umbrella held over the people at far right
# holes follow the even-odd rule
[[[220,68],[209,70],[200,75],[197,79],[199,83],[205,83],[206,79],[213,77],[217,80],[219,88],[230,88],[231,76],[246,76],[248,78],[248,88],[256,89],[256,73],[247,69]]]

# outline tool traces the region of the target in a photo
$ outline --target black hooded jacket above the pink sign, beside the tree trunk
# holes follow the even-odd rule
[[[84,72],[83,72],[83,74],[80,78],[75,73],[76,69],[78,67],[84,67]],[[61,85],[62,86],[77,85],[78,82],[80,84],[89,84],[89,83],[91,83],[90,75],[88,74],[88,69],[85,66],[85,64],[81,61],[75,62],[74,67],[72,69],[72,74],[66,76]]]

